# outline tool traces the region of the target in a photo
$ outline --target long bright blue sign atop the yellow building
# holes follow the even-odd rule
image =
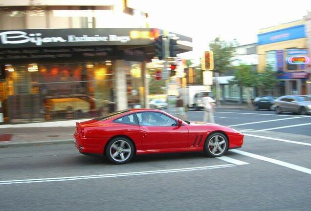
[[[282,42],[306,37],[305,25],[292,26],[258,35],[258,45]]]

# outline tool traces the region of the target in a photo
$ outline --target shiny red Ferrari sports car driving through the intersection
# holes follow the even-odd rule
[[[115,164],[135,154],[203,151],[212,157],[241,148],[244,135],[230,127],[182,121],[156,109],[129,109],[76,123],[80,153],[106,155]]]

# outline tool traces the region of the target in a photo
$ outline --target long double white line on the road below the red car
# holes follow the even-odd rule
[[[175,173],[175,172],[206,170],[206,169],[220,169],[220,168],[227,168],[227,167],[237,167],[237,166],[233,165],[233,164],[225,164],[225,165],[216,165],[216,166],[203,166],[203,167],[193,167],[193,168],[183,168],[183,169],[138,171],[138,172],[128,172],[128,173],[115,173],[115,174],[99,174],[99,175],[55,177],[55,178],[41,178],[41,179],[24,179],[24,180],[6,180],[6,181],[0,181],[0,185],[22,184],[22,183],[41,183],[41,182],[60,182],[60,181],[111,178],[111,177],[123,177],[123,176],[138,176],[138,175]]]

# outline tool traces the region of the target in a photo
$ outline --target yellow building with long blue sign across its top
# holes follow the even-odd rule
[[[308,56],[305,20],[261,29],[258,34],[258,71],[270,64],[280,84],[274,95],[307,94],[308,64],[292,64],[289,58]]]

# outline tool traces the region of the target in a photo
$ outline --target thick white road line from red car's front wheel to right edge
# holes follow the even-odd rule
[[[289,168],[289,169],[294,169],[294,170],[301,171],[301,172],[304,172],[304,173],[307,173],[307,174],[311,174],[311,169],[307,169],[305,167],[301,167],[301,166],[297,166],[297,165],[294,165],[294,164],[290,164],[290,163],[287,163],[287,162],[284,162],[284,161],[280,161],[280,160],[276,160],[276,159],[273,159],[273,158],[264,157],[264,156],[261,156],[261,155],[257,155],[257,154],[253,154],[253,153],[249,153],[249,152],[245,152],[245,151],[241,151],[241,150],[238,150],[238,149],[231,149],[230,151],[238,153],[238,154],[242,154],[242,155],[247,156],[247,157],[252,157],[252,158],[255,158],[255,159],[258,159],[258,160],[262,160],[262,161],[273,163],[273,164],[276,164],[276,165],[279,165],[279,166],[283,166],[283,167],[286,167],[286,168]]]

